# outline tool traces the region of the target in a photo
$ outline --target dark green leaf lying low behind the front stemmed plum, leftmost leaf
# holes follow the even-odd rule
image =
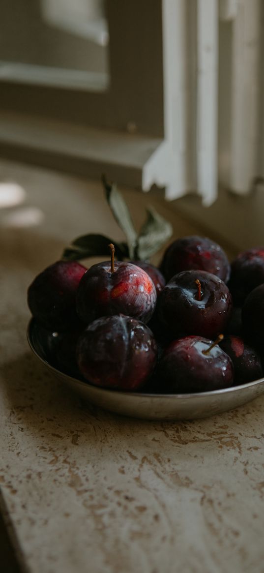
[[[109,244],[115,245],[115,256],[118,260],[123,260],[127,256],[127,245],[116,243],[104,235],[89,234],[77,237],[69,247],[64,249],[62,258],[65,261],[79,261],[82,258],[106,257],[110,260]]]

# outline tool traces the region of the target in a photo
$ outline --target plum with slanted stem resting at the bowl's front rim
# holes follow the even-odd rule
[[[164,352],[158,366],[164,393],[186,394],[227,388],[233,384],[233,364],[218,345],[203,354],[212,344],[201,336],[174,340]]]

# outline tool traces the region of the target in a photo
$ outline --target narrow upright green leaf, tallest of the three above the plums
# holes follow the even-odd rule
[[[133,259],[135,258],[135,250],[137,246],[137,233],[133,225],[127,203],[125,203],[121,193],[117,190],[115,183],[108,183],[104,175],[102,177],[102,181],[108,205],[116,219],[116,222],[127,238],[129,258]]]

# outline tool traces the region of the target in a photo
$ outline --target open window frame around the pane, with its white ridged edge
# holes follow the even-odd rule
[[[65,89],[62,73],[59,87],[55,77],[45,85],[43,73],[35,74],[34,84],[29,66],[17,69],[16,80],[2,68],[0,152],[96,177],[107,170],[124,185],[165,187],[170,199],[197,189],[204,202],[212,201],[217,191],[216,109],[202,105],[200,95],[206,94],[210,103],[216,91],[216,45],[210,35],[218,19],[216,5],[217,0],[108,0],[110,81],[107,85],[101,78],[104,89],[96,89],[94,76],[93,89]],[[195,86],[187,48],[190,30],[195,30],[194,7],[201,68]],[[206,155],[202,145],[196,158],[194,136]]]

